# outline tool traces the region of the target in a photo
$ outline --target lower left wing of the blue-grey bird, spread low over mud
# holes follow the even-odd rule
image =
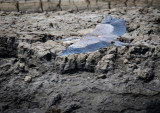
[[[71,46],[67,47],[66,50],[61,52],[59,55],[71,55],[76,53],[86,53],[86,52],[93,52],[98,50],[99,48],[103,48],[109,46],[111,43],[110,40],[113,40],[113,37],[116,38],[114,35],[102,35],[96,36],[94,34],[87,34],[78,42],[72,44]]]

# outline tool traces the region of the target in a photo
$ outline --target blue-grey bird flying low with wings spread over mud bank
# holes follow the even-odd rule
[[[116,46],[125,45],[125,43],[118,41],[117,37],[122,36],[126,32],[124,19],[109,18],[105,15],[105,21],[96,25],[95,29],[72,45],[68,46],[59,55],[66,56],[72,54],[94,52],[100,48],[104,48],[114,44]]]

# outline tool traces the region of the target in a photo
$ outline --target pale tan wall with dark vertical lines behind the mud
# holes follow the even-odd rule
[[[44,12],[111,9],[115,7],[155,7],[159,0],[0,0],[0,11]]]

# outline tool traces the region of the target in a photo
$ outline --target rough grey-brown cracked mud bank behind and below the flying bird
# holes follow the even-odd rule
[[[121,17],[119,40],[136,46],[58,56],[104,21]],[[160,10],[112,8],[0,12],[1,113],[160,113]]]

